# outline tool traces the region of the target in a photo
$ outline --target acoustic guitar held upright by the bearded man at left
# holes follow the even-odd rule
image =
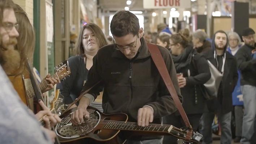
[[[56,73],[51,77],[58,77],[60,80],[64,80],[71,73],[68,61],[61,63],[60,65],[55,67],[55,69],[56,69]],[[25,85],[25,78],[23,75],[18,75],[18,76],[13,75],[8,77],[12,82],[14,89],[19,94],[22,102],[25,103],[30,108],[31,106],[29,101],[35,95],[34,89],[31,87],[30,89],[25,91],[26,85]],[[42,91],[48,87],[48,84],[49,82],[47,80],[43,80],[42,82],[37,84],[37,87],[40,91]]]

